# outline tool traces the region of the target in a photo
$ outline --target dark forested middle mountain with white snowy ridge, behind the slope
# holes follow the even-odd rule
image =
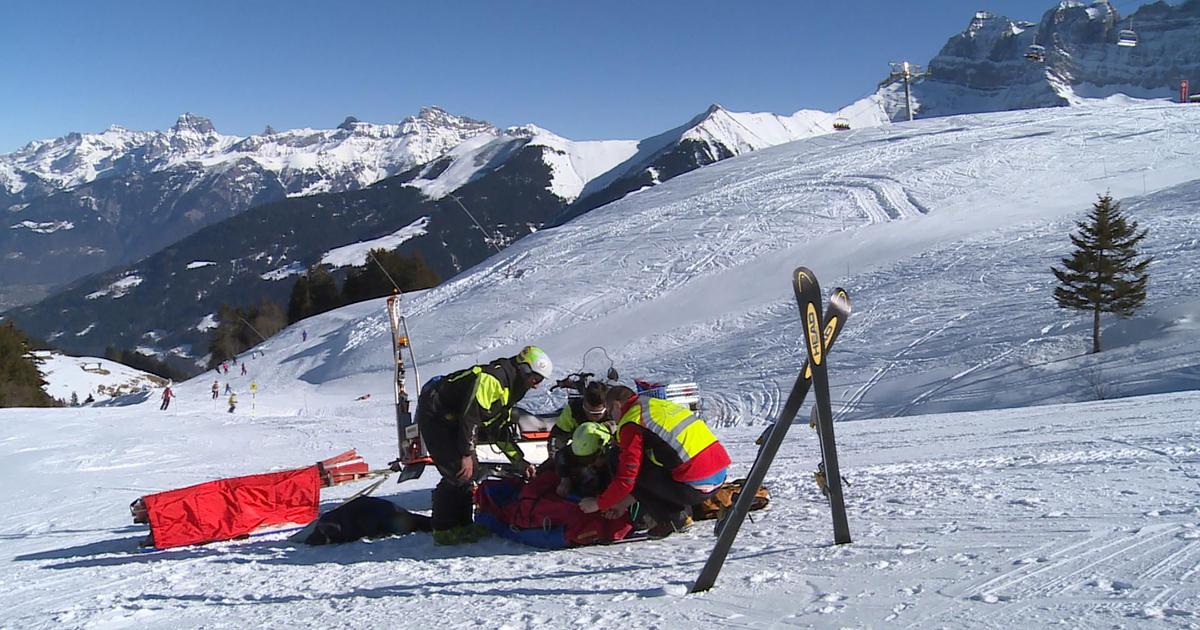
[[[869,126],[886,122],[880,112],[875,106],[846,115]],[[115,344],[198,356],[205,348],[204,323],[217,305],[286,301],[295,276],[313,263],[340,260],[336,251],[353,250],[361,258],[367,245],[356,244],[386,242],[420,253],[450,277],[562,217],[595,181],[606,184],[589,203],[625,194],[624,186],[636,180],[631,174],[672,164],[674,176],[794,137],[829,133],[834,119],[821,112],[782,118],[713,108],[642,143],[572,142],[533,125],[487,130],[367,188],[251,209],[10,316],[76,353]],[[281,233],[281,224],[289,229]],[[402,239],[391,236],[401,233]]]

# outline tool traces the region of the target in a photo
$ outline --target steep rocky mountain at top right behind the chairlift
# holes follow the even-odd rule
[[[1118,46],[1133,30],[1135,47]],[[1026,59],[1031,47],[1044,61]],[[1123,94],[1175,98],[1180,80],[1200,85],[1200,0],[1158,1],[1123,17],[1104,0],[1063,0],[1038,23],[978,12],[950,37],[913,85],[917,116],[1076,104]],[[877,96],[893,120],[907,118],[901,83]]]

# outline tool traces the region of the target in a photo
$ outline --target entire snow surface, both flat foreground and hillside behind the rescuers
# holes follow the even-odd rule
[[[394,457],[373,300],[272,337],[242,358],[246,377],[175,385],[168,412],[157,392],[0,410],[13,481],[0,488],[0,624],[1200,626],[1198,140],[1200,108],[1162,103],[823,136],[682,175],[406,296],[425,378],[535,342],[558,373],[600,344],[625,378],[698,380],[742,475],[802,362],[788,274],[811,266],[854,302],[829,359],[851,545],[830,545],[800,422],[768,476],[770,508],[701,595],[682,593],[709,523],[553,552],[426,534],[132,552],[145,528],[126,506],[140,494],[352,446],[376,467]],[[1090,319],[1054,307],[1049,266],[1106,190],[1150,228],[1156,263],[1146,307],[1105,318],[1093,356]],[[598,355],[588,366],[607,367]],[[210,398],[215,378],[239,392],[238,413]],[[377,494],[426,510],[433,482]]]

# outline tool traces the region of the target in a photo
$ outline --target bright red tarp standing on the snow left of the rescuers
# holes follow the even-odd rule
[[[320,473],[310,466],[235,476],[142,497],[158,548],[229,540],[268,526],[317,518]]]

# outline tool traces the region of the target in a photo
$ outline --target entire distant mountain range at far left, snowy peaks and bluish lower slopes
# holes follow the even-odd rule
[[[184,114],[166,132],[110,127],[0,156],[0,308],[136,260],[253,205],[359,190],[426,163],[486,122],[426,108],[396,125],[240,138]]]

